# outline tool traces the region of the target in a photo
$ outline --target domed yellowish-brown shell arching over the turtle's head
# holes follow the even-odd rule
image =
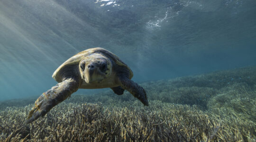
[[[75,54],[71,58],[69,58],[67,61],[65,61],[62,65],[60,65],[54,71],[52,78],[55,79],[57,82],[62,82],[61,72],[68,71],[68,70],[64,70],[64,69],[66,69],[67,67],[73,67],[73,65],[79,65],[80,61],[84,57],[86,57],[92,53],[101,53],[101,54],[105,55],[106,57],[111,58],[111,61],[113,61],[113,63],[115,63],[118,66],[124,66],[129,70],[129,79],[131,79],[133,77],[133,72],[131,71],[131,69],[128,67],[127,64],[122,62],[117,55],[111,53],[110,51],[108,51],[104,48],[96,47],[96,48],[90,48],[90,49],[84,50],[80,53]]]

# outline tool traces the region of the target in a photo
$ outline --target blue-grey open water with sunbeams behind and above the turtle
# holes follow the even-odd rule
[[[41,95],[91,47],[137,82],[256,65],[256,1],[0,0],[0,100]]]

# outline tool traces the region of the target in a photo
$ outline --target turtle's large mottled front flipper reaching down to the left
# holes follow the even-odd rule
[[[48,91],[44,92],[35,102],[35,107],[29,112],[27,123],[46,115],[54,106],[68,98],[79,88],[79,81],[73,78],[66,79]]]

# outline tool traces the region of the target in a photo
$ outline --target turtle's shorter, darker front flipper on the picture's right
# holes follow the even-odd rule
[[[125,76],[120,76],[119,81],[123,89],[128,90],[135,98],[138,98],[145,106],[148,106],[145,90]]]

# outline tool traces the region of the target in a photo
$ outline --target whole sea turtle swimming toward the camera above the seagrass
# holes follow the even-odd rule
[[[46,115],[78,89],[110,88],[117,95],[122,95],[126,89],[148,106],[145,90],[131,80],[131,69],[104,48],[91,48],[75,54],[60,65],[52,77],[59,83],[37,98],[27,123]]]

